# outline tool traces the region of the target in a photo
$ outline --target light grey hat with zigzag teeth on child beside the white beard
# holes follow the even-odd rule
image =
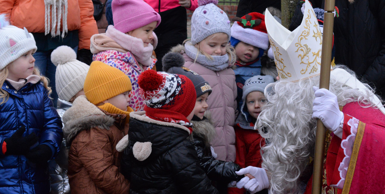
[[[259,91],[264,92],[265,87],[274,82],[274,78],[271,75],[256,75],[254,77],[249,78],[243,85],[243,93],[242,93],[242,107],[241,113],[244,115],[247,120],[246,114],[243,112],[244,105],[246,104],[246,96],[251,92]]]

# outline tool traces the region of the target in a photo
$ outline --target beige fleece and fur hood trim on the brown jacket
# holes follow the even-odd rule
[[[75,99],[72,107],[65,111],[63,122],[64,138],[70,144],[82,130],[92,128],[109,130],[110,126],[114,125],[115,120],[89,102],[85,95],[81,95]]]

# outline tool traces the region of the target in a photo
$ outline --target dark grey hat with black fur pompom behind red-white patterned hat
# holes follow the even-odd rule
[[[191,69],[183,67],[184,59],[181,54],[173,52],[167,53],[162,59],[162,64],[163,71],[169,74],[184,75],[188,79],[190,79],[192,81],[192,84],[194,84],[197,98],[207,92],[210,95],[213,91],[209,85],[209,82],[206,82],[203,77],[201,77]]]

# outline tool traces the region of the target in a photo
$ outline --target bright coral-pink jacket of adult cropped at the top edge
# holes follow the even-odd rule
[[[158,13],[181,6],[179,5],[178,0],[144,0],[144,2],[149,4]],[[191,0],[191,7],[187,9],[194,11],[197,7],[198,7],[198,0]]]

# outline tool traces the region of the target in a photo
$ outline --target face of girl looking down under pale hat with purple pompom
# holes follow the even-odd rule
[[[228,35],[226,33],[214,33],[199,42],[199,50],[213,56],[223,56],[226,54],[226,45],[228,43]],[[197,44],[197,45],[198,45]],[[196,47],[197,47],[196,45]]]

